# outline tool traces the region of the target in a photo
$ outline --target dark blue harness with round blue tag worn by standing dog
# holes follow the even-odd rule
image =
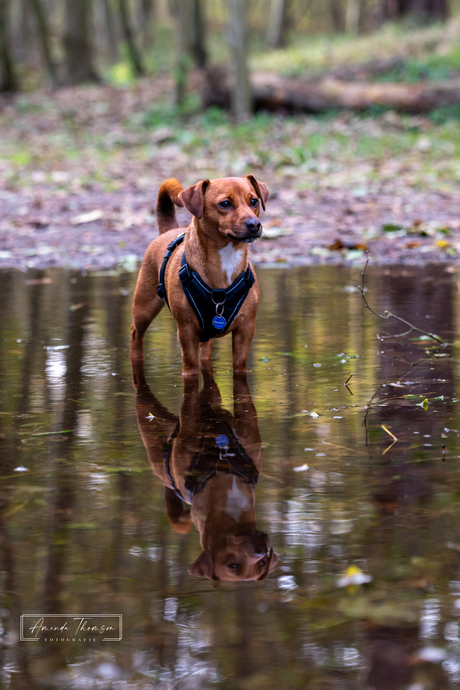
[[[169,302],[164,284],[166,265],[173,251],[182,244],[184,238],[185,233],[176,237],[168,245],[160,269],[157,293],[161,299],[166,300],[168,307]],[[190,270],[185,251],[182,254],[179,278],[182,289],[201,326],[199,338],[202,343],[216,335],[223,335],[227,331],[255,282],[254,273],[248,266],[247,270],[242,271],[228,288],[214,290],[204,282],[199,273]]]

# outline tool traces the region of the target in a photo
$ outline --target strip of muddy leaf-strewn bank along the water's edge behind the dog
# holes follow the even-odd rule
[[[0,267],[135,270],[157,234],[156,191],[0,195]],[[190,216],[179,214],[186,226]],[[407,190],[351,195],[348,190],[275,188],[264,235],[251,247],[257,264],[373,265],[456,263],[460,193]]]

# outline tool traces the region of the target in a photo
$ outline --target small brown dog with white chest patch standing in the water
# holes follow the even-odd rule
[[[198,375],[200,340],[199,359],[205,362],[211,356],[212,337],[221,337],[230,332],[233,337],[233,371],[246,371],[259,303],[259,288],[249,262],[248,244],[262,233],[258,218],[260,204],[265,210],[268,197],[267,185],[258,182],[253,175],[204,180],[185,190],[173,178],[161,185],[157,205],[160,236],[147,248],[134,294],[132,361],[143,359],[145,331],[165,304],[165,299],[157,294],[157,286],[160,283],[165,251],[178,236],[176,205],[185,206],[193,214],[193,219],[185,232],[183,243],[170,252],[171,256],[163,269],[162,284],[164,296],[177,322],[182,374]],[[208,316],[212,325],[207,322],[208,316],[201,319],[201,314],[197,315],[197,310],[194,309],[197,298],[187,295],[185,283],[179,277],[184,253],[189,279],[193,275],[195,282],[202,286],[201,289],[209,292]],[[236,305],[236,315],[232,307],[229,309],[229,316],[224,309],[230,303],[230,293],[237,283],[241,289],[243,277],[248,281],[248,276],[254,284],[246,282],[249,289]],[[230,291],[226,290],[229,287]],[[236,292],[233,293],[235,294]],[[227,326],[216,332],[212,317],[223,319]],[[222,321],[217,320],[216,323],[221,324]]]

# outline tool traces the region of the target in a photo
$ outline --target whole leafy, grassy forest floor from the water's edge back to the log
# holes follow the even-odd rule
[[[134,270],[167,177],[269,185],[254,263],[460,259],[458,118],[178,112],[167,79],[0,102],[0,268]],[[193,101],[193,99],[192,99]],[[185,213],[179,214],[186,225]]]

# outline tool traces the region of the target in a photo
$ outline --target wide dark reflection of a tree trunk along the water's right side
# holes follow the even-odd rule
[[[382,306],[452,341],[454,291],[457,290],[452,276],[443,268],[430,271],[421,280],[414,280],[410,270],[407,273],[407,276],[392,276],[391,289],[381,290],[385,294]],[[426,315],[430,318],[425,318]],[[399,324],[382,322],[381,332],[384,330],[397,333],[402,329]],[[413,336],[418,338],[416,333]],[[366,539],[368,566],[372,572],[379,572],[382,568],[391,570],[393,565],[407,563],[413,577],[412,587],[423,594],[430,584],[430,575],[411,564],[417,562],[416,559],[428,558],[439,539],[443,539],[443,525],[431,504],[442,463],[441,444],[445,441],[441,434],[446,417],[452,417],[455,410],[452,402],[455,370],[452,359],[435,358],[431,354],[449,354],[450,348],[437,347],[430,341],[395,338],[379,341],[378,348],[379,379],[386,385],[379,389],[367,415],[369,452],[373,462],[370,481],[378,516]],[[422,397],[414,401],[404,395]],[[445,398],[438,403],[443,405],[444,421],[431,411],[432,408],[425,411],[416,404],[424,397],[438,396]],[[392,439],[382,425],[398,439],[392,446]],[[425,441],[429,441],[431,447],[424,447]],[[449,562],[453,565],[450,554],[445,554],[443,560],[443,567],[448,567]],[[444,570],[443,579],[446,575]],[[454,570],[451,576],[455,577]],[[393,627],[368,625],[367,684],[377,690],[389,687],[398,690],[413,682],[414,652],[421,645],[419,635],[418,626],[403,621]],[[436,687],[446,687],[441,667],[432,669],[431,682],[434,676],[439,683]]]

